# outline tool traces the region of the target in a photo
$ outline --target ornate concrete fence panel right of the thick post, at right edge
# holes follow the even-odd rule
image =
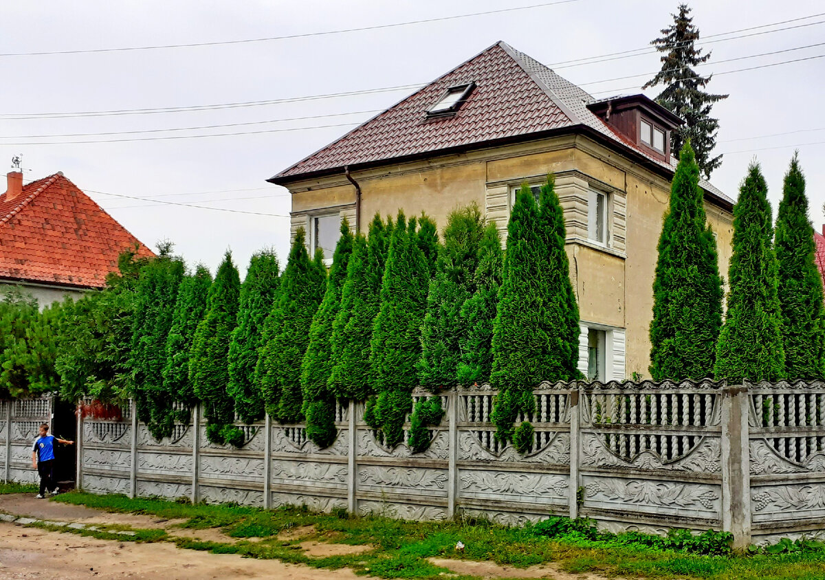
[[[823,530],[825,384],[758,383],[747,389],[755,539]]]

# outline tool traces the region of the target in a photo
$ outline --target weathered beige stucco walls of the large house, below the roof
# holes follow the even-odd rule
[[[513,188],[525,181],[539,183],[548,173],[556,176],[563,205],[582,330],[608,332],[606,348],[615,354],[615,364],[607,378],[648,376],[653,273],[669,199],[667,178],[582,135],[387,164],[352,172],[351,177],[361,187],[362,230],[376,212],[395,215],[399,208],[408,216],[426,212],[441,230],[450,210],[476,203],[506,234]],[[343,174],[288,187],[293,194],[293,233],[301,226],[311,229],[312,216],[330,212],[346,215],[354,227],[356,190]],[[606,194],[603,244],[587,237],[591,189]],[[709,224],[719,245],[719,268],[726,276],[732,215],[722,204],[706,199]],[[586,357],[587,344],[582,348]]]

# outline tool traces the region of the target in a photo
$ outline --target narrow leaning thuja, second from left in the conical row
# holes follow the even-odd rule
[[[174,401],[191,408],[198,403],[195,389],[189,380],[189,359],[198,323],[206,314],[206,302],[212,286],[212,275],[206,266],[197,266],[195,273],[184,276],[177,290],[172,327],[163,349],[166,365],[163,366],[163,389]],[[189,413],[177,417],[189,422]]]

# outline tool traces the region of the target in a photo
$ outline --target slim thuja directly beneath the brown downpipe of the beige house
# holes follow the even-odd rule
[[[341,309],[332,324],[329,386],[337,398],[363,401],[373,393],[370,341],[380,308],[381,280],[392,221],[380,215],[370,223],[369,238],[356,236],[341,290]]]

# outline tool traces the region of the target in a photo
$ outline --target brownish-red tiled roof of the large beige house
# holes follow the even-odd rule
[[[455,116],[427,118],[427,109],[447,88],[465,83],[476,86]],[[269,181],[283,183],[307,174],[342,170],[347,165],[437,154],[441,150],[573,127],[594,130],[643,155],[648,162],[673,171],[672,164],[651,157],[610,130],[587,108],[594,101],[582,88],[544,64],[505,42],[497,42]],[[713,196],[733,204],[709,183],[700,185]]]

